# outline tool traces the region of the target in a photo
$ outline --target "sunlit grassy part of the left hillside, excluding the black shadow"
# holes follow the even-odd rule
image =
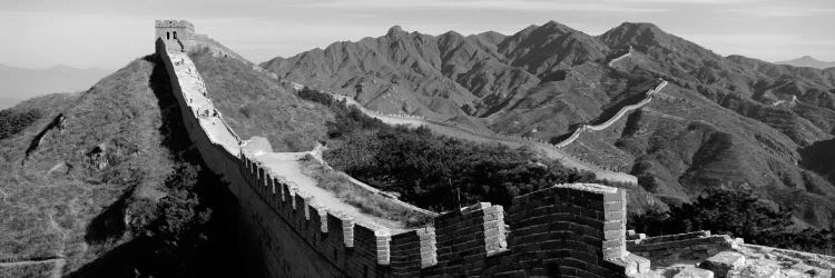
[[[156,98],[148,88],[153,64],[137,60],[79,97],[46,97],[21,103],[45,117],[2,143],[0,185],[3,259],[71,256],[84,261],[85,230],[107,206],[139,185],[160,183],[170,161],[161,150]],[[66,120],[47,131],[28,159],[33,138],[58,115]],[[105,145],[110,166],[99,170],[86,155]],[[52,167],[66,163],[66,170]],[[50,219],[55,220],[52,222]],[[63,241],[62,230],[67,232]],[[75,261],[73,261],[75,264]]]

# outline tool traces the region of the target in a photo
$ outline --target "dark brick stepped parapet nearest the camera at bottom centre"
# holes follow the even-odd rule
[[[443,215],[435,220],[438,265],[421,275],[623,277],[637,272],[625,247],[625,205],[622,189],[577,183],[519,196],[507,212],[480,203]]]

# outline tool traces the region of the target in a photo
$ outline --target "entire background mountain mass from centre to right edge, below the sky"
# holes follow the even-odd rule
[[[510,36],[393,27],[262,66],[376,111],[552,142],[636,103],[661,78],[671,83],[649,105],[566,150],[638,176],[669,203],[752,188],[804,224],[835,220],[831,165],[800,162],[819,161],[803,150],[833,138],[832,70],[721,57],[651,23],[589,36],[553,21]]]

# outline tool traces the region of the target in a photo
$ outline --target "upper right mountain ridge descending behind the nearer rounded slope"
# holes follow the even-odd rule
[[[835,85],[831,73],[740,56],[724,58],[650,23],[623,23],[600,39],[610,47],[629,44],[640,52],[625,70],[641,68],[659,73],[783,131],[799,145],[823,140],[832,130],[821,120],[832,113],[828,95]],[[804,105],[796,106],[795,98],[803,98]],[[793,112],[780,109],[784,107]]]

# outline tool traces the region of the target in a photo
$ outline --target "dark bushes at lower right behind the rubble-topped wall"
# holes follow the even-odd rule
[[[744,238],[747,244],[835,255],[832,230],[799,228],[789,210],[749,190],[709,189],[692,203],[630,215],[627,224],[650,236],[710,230]]]

